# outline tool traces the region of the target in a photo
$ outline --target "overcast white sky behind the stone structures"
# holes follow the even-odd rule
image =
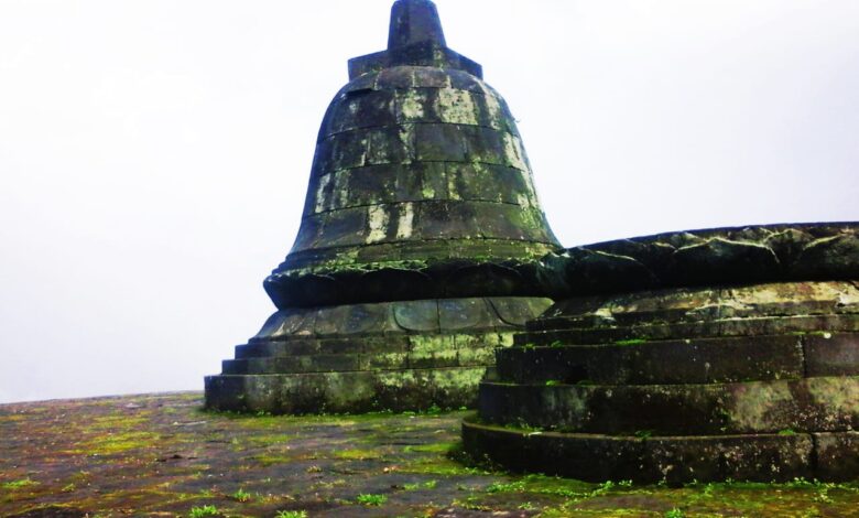
[[[0,402],[202,389],[391,0],[0,0]],[[566,246],[859,219],[856,0],[437,0]]]

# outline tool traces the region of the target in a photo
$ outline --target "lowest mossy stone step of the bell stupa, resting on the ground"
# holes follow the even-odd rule
[[[486,367],[206,377],[206,407],[271,413],[474,408]]]

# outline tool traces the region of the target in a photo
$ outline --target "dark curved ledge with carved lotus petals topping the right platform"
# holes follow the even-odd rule
[[[659,288],[859,279],[856,222],[659,234],[569,248],[543,259],[555,299]]]

